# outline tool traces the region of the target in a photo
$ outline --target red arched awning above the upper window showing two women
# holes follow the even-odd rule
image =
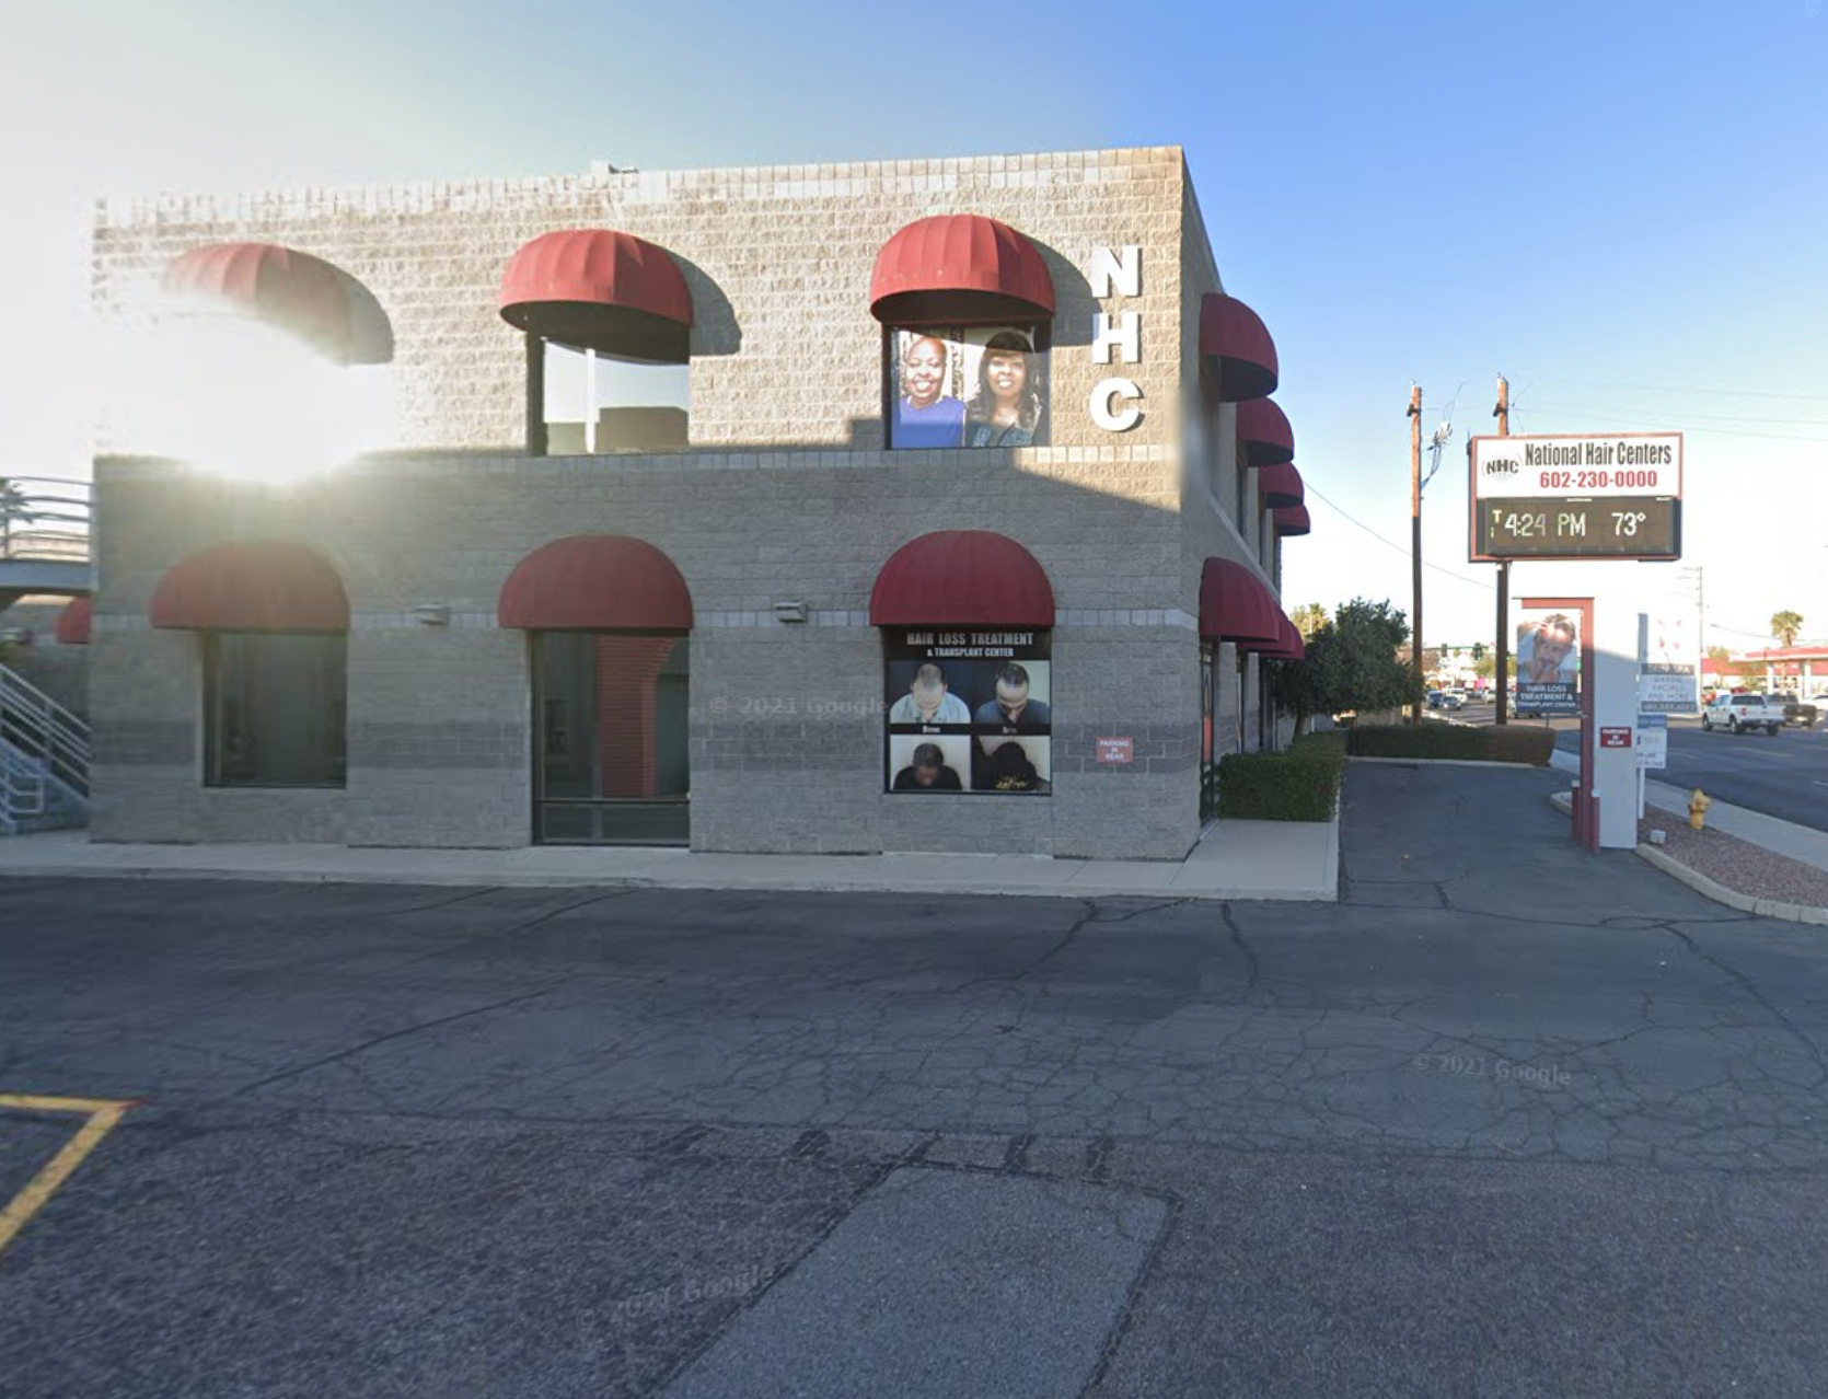
[[[1051,320],[1053,276],[1007,223],[940,214],[910,223],[876,254],[870,315],[885,326]]]

